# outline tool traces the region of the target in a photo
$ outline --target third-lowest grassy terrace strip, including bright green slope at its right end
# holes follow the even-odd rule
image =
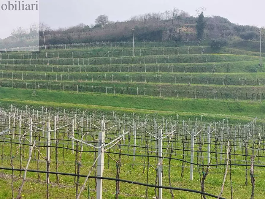
[[[70,60],[73,61],[73,60]],[[265,59],[262,59],[263,63],[265,62]],[[5,62],[5,60],[4,60]],[[35,61],[36,62],[36,61]],[[105,64],[105,65],[99,65],[99,63],[91,63],[90,65],[83,65],[82,61],[78,60],[76,63],[69,63],[67,65],[67,60],[62,63],[63,65],[55,65],[57,64],[57,61],[54,62],[54,65],[52,64],[52,60],[50,61],[50,65],[47,65],[47,60],[40,60],[35,65],[33,62],[26,63],[21,60],[16,62],[13,60],[10,61],[10,63],[7,65],[5,63],[0,64],[0,70],[5,71],[42,71],[42,72],[210,72],[212,73],[215,69],[215,73],[219,72],[226,72],[226,73],[235,73],[235,72],[265,72],[264,67],[259,67],[259,59],[256,58],[256,60],[253,61],[225,61],[225,62],[204,62],[203,63],[182,63],[181,60],[178,63],[171,63],[171,64],[145,64],[144,62],[142,64],[137,64],[130,62],[130,64]],[[45,64],[46,63],[46,64]]]

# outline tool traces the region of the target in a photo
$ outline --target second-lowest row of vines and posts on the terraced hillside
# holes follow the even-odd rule
[[[56,69],[55,69],[56,70]],[[202,84],[202,85],[244,85],[244,86],[265,86],[264,78],[247,79],[207,76],[182,76],[180,74],[153,74],[153,73],[23,73],[23,72],[0,72],[2,79],[12,80],[48,80],[48,81],[91,81],[91,82],[145,82],[145,83],[171,83],[171,84]]]

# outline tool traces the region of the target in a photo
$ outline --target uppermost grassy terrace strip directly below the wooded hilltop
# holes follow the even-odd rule
[[[186,54],[201,54],[219,53],[219,54],[234,54],[234,55],[249,55],[259,56],[259,42],[237,40],[231,42],[227,47],[213,49],[210,46],[181,46],[181,47],[155,47],[155,48],[139,48],[135,47],[135,56],[150,56],[150,55],[186,55]],[[240,45],[240,47],[238,46]],[[247,48],[246,48],[247,47]],[[264,56],[265,53],[262,53]],[[2,59],[27,59],[27,58],[46,58],[45,50],[41,53],[25,53],[25,52],[10,52],[1,53]],[[58,49],[49,50],[48,58],[81,58],[81,57],[118,57],[132,56],[132,48],[95,48],[95,49]]]

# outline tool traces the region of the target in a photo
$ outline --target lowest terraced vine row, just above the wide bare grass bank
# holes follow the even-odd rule
[[[171,97],[175,99],[207,99],[207,100],[251,100],[263,102],[265,93],[263,92],[250,92],[243,93],[241,91],[217,91],[215,89],[208,89],[207,91],[196,91],[194,89],[181,90],[178,88],[161,89],[148,88],[142,86],[126,86],[119,85],[101,86],[96,85],[80,85],[80,84],[63,84],[63,83],[27,83],[27,82],[5,82],[1,81],[1,87],[20,88],[20,89],[45,89],[47,91],[72,91],[72,92],[86,92],[86,93],[101,93],[101,94],[121,94],[121,95],[135,95],[135,96],[154,96],[154,97]]]

